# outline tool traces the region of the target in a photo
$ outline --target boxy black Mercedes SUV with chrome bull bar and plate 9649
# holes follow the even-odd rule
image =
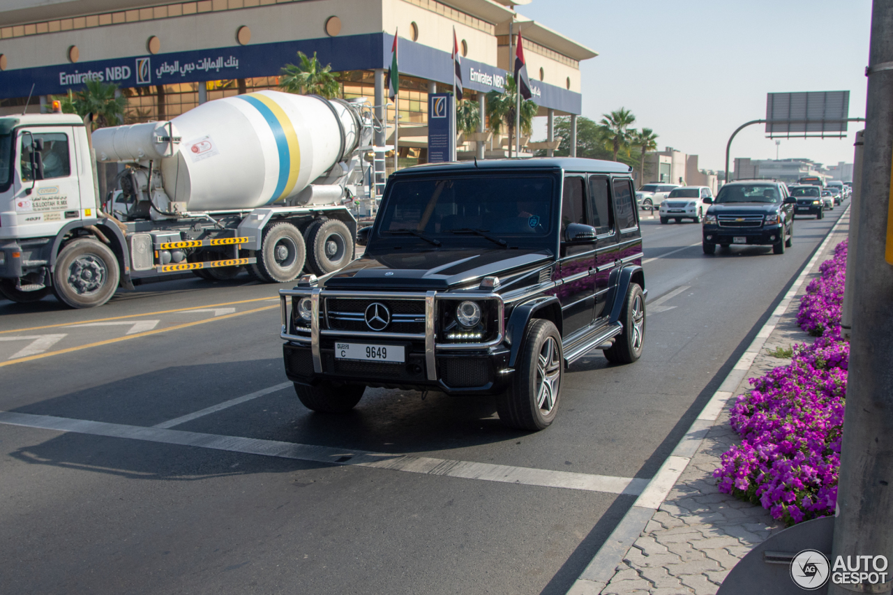
[[[645,339],[630,168],[591,159],[420,165],[388,180],[365,253],[280,290],[288,379],[310,409],[367,386],[495,395],[500,419],[552,423],[563,371]]]

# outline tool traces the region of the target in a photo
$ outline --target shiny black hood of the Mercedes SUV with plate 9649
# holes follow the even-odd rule
[[[459,248],[363,255],[325,281],[325,289],[449,289],[552,260],[547,250]]]

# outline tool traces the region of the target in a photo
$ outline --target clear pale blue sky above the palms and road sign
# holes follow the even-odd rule
[[[626,107],[658,147],[699,155],[722,170],[730,134],[762,119],[766,93],[848,90],[849,116],[864,117],[870,0],[533,0],[519,13],[599,55],[580,63],[583,115]],[[538,118],[545,122],[545,118]],[[545,137],[537,122],[534,138]],[[852,163],[843,139],[782,139],[781,159]],[[774,159],[758,124],[739,132],[735,157]]]

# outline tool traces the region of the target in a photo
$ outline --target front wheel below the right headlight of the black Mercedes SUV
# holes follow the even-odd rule
[[[499,419],[520,430],[542,430],[555,420],[564,374],[561,335],[537,319],[524,333],[512,382],[497,397]]]

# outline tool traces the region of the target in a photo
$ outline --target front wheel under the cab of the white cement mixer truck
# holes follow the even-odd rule
[[[75,239],[56,258],[53,290],[66,306],[102,306],[112,298],[119,281],[118,259],[95,239]]]

